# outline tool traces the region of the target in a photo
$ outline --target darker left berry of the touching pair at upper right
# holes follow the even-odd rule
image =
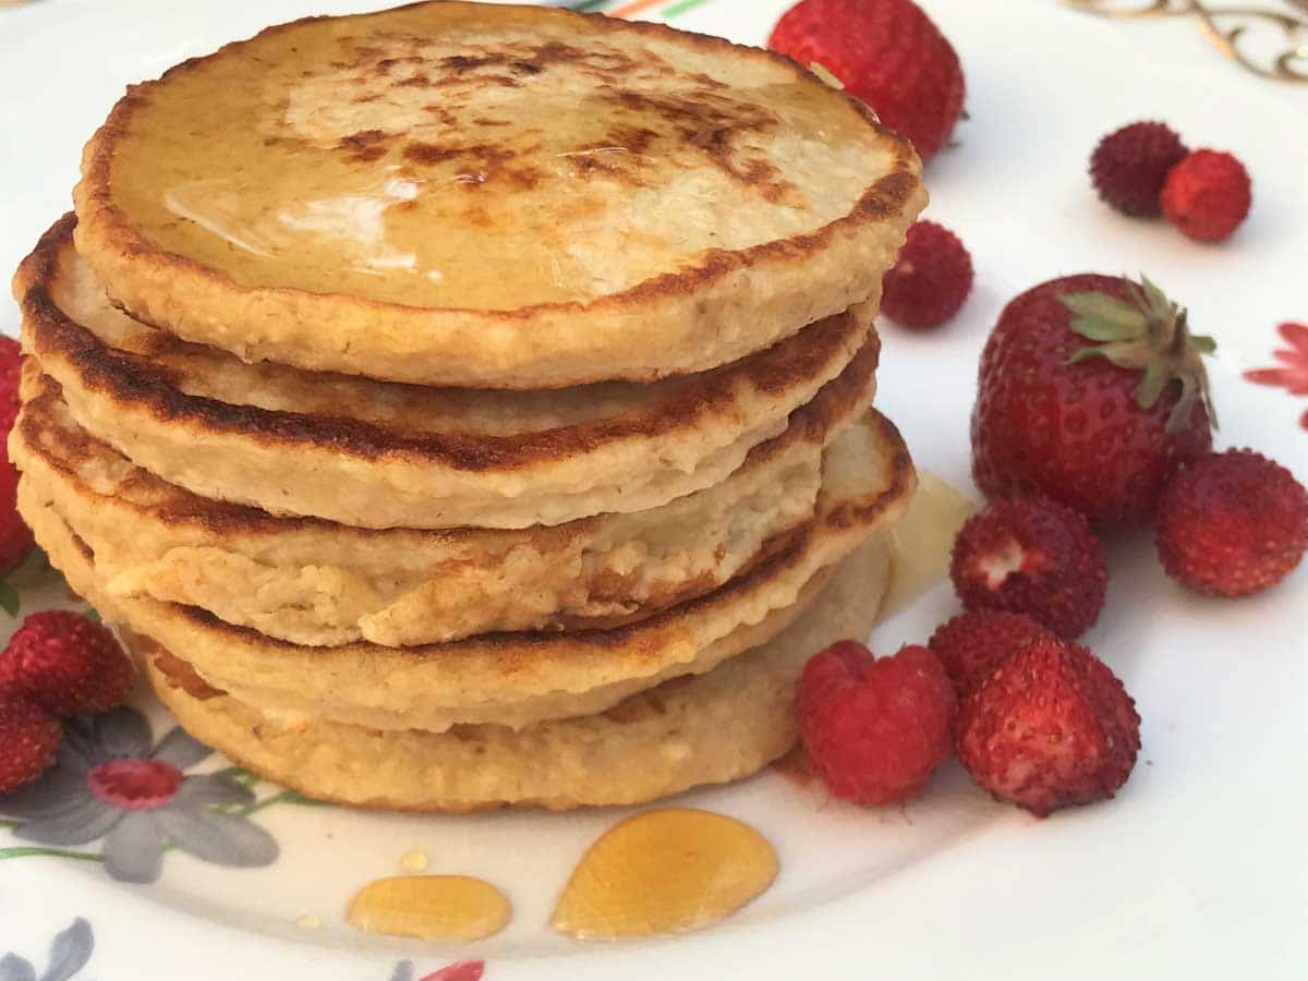
[[[1169,126],[1131,123],[1099,141],[1090,158],[1090,175],[1099,196],[1124,215],[1159,215],[1158,198],[1167,173],[1186,153]]]

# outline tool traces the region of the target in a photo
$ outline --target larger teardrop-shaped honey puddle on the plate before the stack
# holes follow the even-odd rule
[[[583,940],[700,930],[776,878],[777,853],[749,825],[709,811],[646,811],[590,846],[551,925]]]

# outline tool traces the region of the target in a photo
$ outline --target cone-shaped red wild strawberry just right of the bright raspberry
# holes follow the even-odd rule
[[[1139,752],[1122,683],[1084,647],[1035,641],[959,708],[959,760],[982,787],[1041,818],[1112,797]]]

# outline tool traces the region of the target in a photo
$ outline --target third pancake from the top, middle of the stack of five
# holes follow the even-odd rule
[[[29,361],[10,459],[95,553],[110,593],[199,606],[293,644],[438,644],[613,627],[709,593],[814,515],[821,402],[723,483],[552,528],[361,530],[209,501],[86,434]]]

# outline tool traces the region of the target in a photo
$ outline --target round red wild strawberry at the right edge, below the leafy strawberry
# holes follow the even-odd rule
[[[1168,576],[1244,596],[1281,582],[1308,551],[1308,490],[1252,450],[1201,456],[1163,490],[1156,530]]]

